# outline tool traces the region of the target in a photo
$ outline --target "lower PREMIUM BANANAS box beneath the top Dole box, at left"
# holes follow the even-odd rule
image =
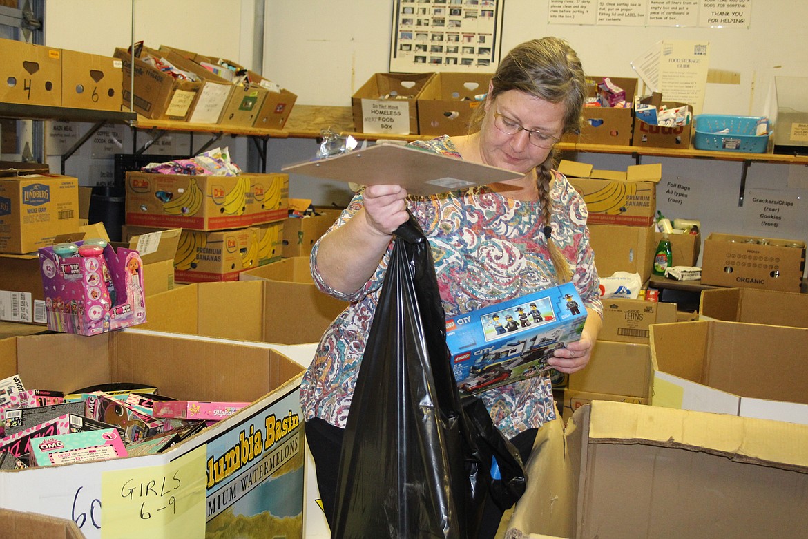
[[[178,283],[238,280],[239,273],[258,266],[259,236],[254,227],[223,232],[183,230],[174,278]]]

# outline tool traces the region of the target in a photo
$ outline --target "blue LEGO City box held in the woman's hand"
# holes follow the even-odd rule
[[[571,283],[448,318],[446,343],[461,393],[544,373],[557,348],[581,338],[586,321]]]

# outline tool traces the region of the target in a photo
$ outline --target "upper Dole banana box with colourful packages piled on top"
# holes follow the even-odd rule
[[[127,225],[238,229],[283,221],[288,175],[202,176],[126,173]]]

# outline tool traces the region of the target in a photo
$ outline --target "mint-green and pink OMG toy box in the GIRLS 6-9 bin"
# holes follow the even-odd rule
[[[124,442],[114,428],[31,440],[31,458],[37,466],[102,461],[126,456]]]

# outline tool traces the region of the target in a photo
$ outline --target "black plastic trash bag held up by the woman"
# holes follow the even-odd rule
[[[431,250],[410,217],[396,231],[347,417],[332,537],[476,537],[486,496],[503,491],[490,488],[494,454],[499,470],[520,469],[504,483],[524,491],[516,449],[490,417],[490,431],[485,418],[466,419],[445,327]],[[500,464],[508,446],[516,463]]]

